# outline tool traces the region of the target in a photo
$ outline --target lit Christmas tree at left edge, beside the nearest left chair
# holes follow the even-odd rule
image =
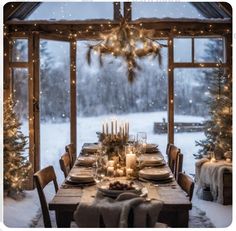
[[[4,192],[18,198],[31,169],[25,156],[27,137],[21,132],[21,123],[14,112],[12,98],[4,102]]]

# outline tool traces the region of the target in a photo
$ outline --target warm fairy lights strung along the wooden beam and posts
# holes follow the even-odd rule
[[[14,8],[14,4],[11,5],[12,8]],[[135,23],[135,22],[129,22],[128,24],[132,26],[135,26],[135,29],[138,31],[138,35],[142,36],[143,35],[143,31],[145,31],[145,25],[148,22],[140,22],[140,23]],[[9,45],[12,46],[12,41],[11,41],[11,36],[14,36],[14,32],[19,32],[22,37],[27,38],[29,35],[29,32],[27,31],[22,31],[22,28],[20,25],[10,25],[11,27],[11,32],[8,33],[9,30],[9,26],[8,25],[4,25],[4,37],[9,38]],[[18,28],[19,27],[19,28]],[[32,25],[30,26],[30,28],[32,27]],[[33,31],[33,33],[38,33],[40,34],[39,31],[37,31],[40,27],[40,24],[38,23],[34,23],[33,27],[35,27],[35,31]],[[108,37],[112,34],[112,32],[114,32],[114,27],[117,27],[117,22],[113,22],[111,20],[108,21],[104,21],[100,24],[96,24],[96,25],[88,25],[86,27],[83,28],[83,30],[60,30],[58,28],[55,28],[54,31],[54,35],[63,35],[63,37],[67,37],[68,40],[71,41],[72,43],[72,49],[76,49],[77,47],[77,40],[82,38],[89,38],[89,36],[95,36],[96,38],[100,38],[101,40],[108,40]],[[225,29],[220,29],[220,33],[219,32],[214,32],[215,31],[215,26],[211,23],[206,23],[204,24],[202,29],[199,30],[194,30],[194,29],[188,29],[186,30],[186,28],[180,28],[181,26],[173,26],[172,28],[168,29],[168,30],[149,30],[148,33],[153,34],[153,38],[169,38],[169,36],[171,35],[172,38],[175,37],[181,37],[181,36],[189,36],[189,37],[197,37],[197,36],[204,36],[207,37],[215,35],[218,36],[220,34],[221,37],[227,36],[229,34],[231,34],[231,29],[230,28],[225,28]],[[72,28],[72,27],[71,27]],[[216,31],[218,31],[219,28],[217,28]],[[14,31],[12,33],[12,31]],[[99,34],[99,36],[98,36]],[[104,37],[105,36],[105,37]],[[153,39],[154,40],[154,39]],[[174,46],[173,40],[172,39],[168,39],[168,45],[169,46]],[[232,46],[232,45],[231,45]],[[4,53],[4,56],[7,57],[8,54],[7,52]],[[32,62],[38,62],[39,60],[35,60],[33,57]],[[204,63],[198,63],[199,67],[207,67],[207,65],[205,65]],[[215,67],[219,67],[218,63],[215,63]],[[75,63],[71,63],[71,71],[72,72],[76,72],[76,64]],[[169,72],[173,71],[173,67],[169,67],[168,68]],[[30,80],[33,80],[32,77],[30,77]],[[75,84],[75,80],[71,80],[71,85]],[[170,103],[173,103],[173,99],[170,100]]]

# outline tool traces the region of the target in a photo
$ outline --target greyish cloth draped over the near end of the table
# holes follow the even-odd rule
[[[79,227],[154,227],[163,205],[157,196],[156,188],[149,187],[149,200],[129,192],[112,199],[88,187],[74,219]]]

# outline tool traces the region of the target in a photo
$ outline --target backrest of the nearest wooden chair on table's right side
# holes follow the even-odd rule
[[[193,190],[194,190],[194,181],[187,174],[180,172],[178,176],[178,184],[180,187],[187,193],[189,200],[192,200]]]

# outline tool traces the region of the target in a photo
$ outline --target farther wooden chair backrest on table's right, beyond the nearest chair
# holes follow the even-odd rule
[[[172,171],[172,173],[175,176],[175,179],[178,179],[178,173],[182,172],[182,166],[183,166],[183,154],[180,153],[180,149],[177,148],[174,144],[170,144],[169,148],[169,167]]]

